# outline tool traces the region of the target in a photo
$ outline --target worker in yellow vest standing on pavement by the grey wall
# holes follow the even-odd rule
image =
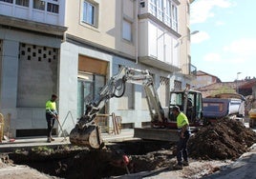
[[[55,119],[57,119],[58,117],[56,103],[55,103],[56,99],[57,99],[57,96],[53,94],[51,100],[46,102],[47,142],[49,143],[54,141],[52,137],[52,132],[53,132]]]

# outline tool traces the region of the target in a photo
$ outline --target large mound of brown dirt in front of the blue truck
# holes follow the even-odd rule
[[[200,159],[236,159],[256,143],[256,133],[235,120],[224,119],[203,127],[188,143],[189,156]]]

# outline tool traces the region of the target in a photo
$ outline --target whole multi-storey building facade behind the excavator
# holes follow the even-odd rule
[[[0,8],[0,22],[7,22],[0,29],[0,112],[11,118],[13,135],[44,134],[44,105],[52,93],[59,96],[60,123],[69,132],[86,104],[124,66],[150,70],[161,106],[168,108],[169,91],[184,89],[190,80],[177,48],[184,35],[180,29],[187,28],[179,21],[182,3],[0,0],[1,8],[7,7]],[[127,84],[123,97],[111,99],[100,111],[112,112],[121,116],[122,129],[149,124],[143,87]],[[100,125],[113,128],[109,117]]]

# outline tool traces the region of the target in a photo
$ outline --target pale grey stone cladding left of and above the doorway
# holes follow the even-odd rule
[[[61,44],[59,76],[59,119],[63,129],[70,132],[77,119],[78,56],[84,55],[111,62],[112,56],[98,50],[76,46],[70,42]],[[112,73],[109,73],[112,75]]]

